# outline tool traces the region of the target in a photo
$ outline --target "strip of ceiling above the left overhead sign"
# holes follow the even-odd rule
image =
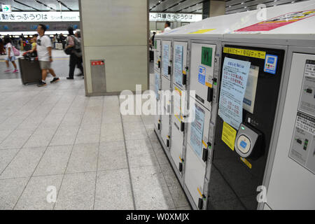
[[[78,0],[0,0],[0,4],[12,6],[14,11],[79,10]]]

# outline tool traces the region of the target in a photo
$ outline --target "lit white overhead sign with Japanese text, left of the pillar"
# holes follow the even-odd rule
[[[0,13],[0,22],[78,22],[79,12],[13,12]]]

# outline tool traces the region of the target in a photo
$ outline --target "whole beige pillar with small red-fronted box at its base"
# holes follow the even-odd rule
[[[87,96],[135,91],[136,84],[147,90],[148,1],[80,0],[79,4]],[[93,60],[104,61],[105,68]]]

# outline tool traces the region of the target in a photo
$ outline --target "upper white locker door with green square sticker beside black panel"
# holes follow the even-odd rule
[[[190,90],[196,91],[195,95],[191,96],[207,109],[211,107],[212,102],[215,53],[216,45],[191,45]]]

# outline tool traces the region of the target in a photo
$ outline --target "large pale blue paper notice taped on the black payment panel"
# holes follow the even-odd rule
[[[243,102],[251,62],[225,57],[218,114],[235,129],[243,118]]]

